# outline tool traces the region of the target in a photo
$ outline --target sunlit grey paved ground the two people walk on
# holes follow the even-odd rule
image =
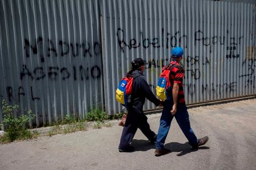
[[[172,121],[165,147],[171,153],[154,156],[154,146],[138,130],[136,151],[119,153],[122,127],[40,137],[0,145],[0,169],[256,169],[256,99],[189,109],[197,137],[210,140],[197,150]],[[160,114],[148,115],[157,132]]]

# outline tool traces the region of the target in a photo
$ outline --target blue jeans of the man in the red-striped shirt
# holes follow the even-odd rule
[[[163,106],[162,116],[160,118],[160,126],[158,129],[155,148],[163,149],[173,117],[176,118],[176,121],[179,124],[180,129],[182,130],[183,134],[187,137],[188,142],[191,144],[191,146],[197,145],[198,140],[196,138],[196,135],[193,132],[193,129],[191,129],[190,127],[190,119],[188,116],[188,110],[187,110],[186,104],[178,103],[177,112],[174,115],[171,115],[171,112],[170,112],[172,110],[172,105],[173,105],[172,100],[165,101],[165,104]]]

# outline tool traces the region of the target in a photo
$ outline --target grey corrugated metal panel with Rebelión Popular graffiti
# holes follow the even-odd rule
[[[176,46],[185,49],[188,104],[255,95],[255,10],[252,4],[215,1],[103,1],[108,112],[123,109],[113,87],[130,61],[148,61],[145,75],[155,92],[162,65]],[[154,108],[145,104],[145,109]]]

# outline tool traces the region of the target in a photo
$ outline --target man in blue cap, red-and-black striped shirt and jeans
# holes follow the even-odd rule
[[[171,82],[172,89],[168,92],[172,97],[169,100],[166,100],[163,105],[157,141],[155,142],[155,156],[171,152],[169,149],[164,148],[164,144],[171,126],[172,118],[174,117],[176,118],[183,134],[187,137],[188,143],[190,143],[193,148],[198,148],[198,146],[207,143],[209,139],[207,136],[197,139],[193,129],[190,127],[190,120],[183,92],[184,69],[180,64],[182,55],[183,49],[181,47],[172,49],[172,61],[169,63],[171,65],[169,68],[171,70],[169,73],[169,80]]]

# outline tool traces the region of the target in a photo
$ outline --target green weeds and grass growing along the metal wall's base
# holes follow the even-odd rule
[[[29,129],[29,121],[31,121],[35,115],[31,110],[28,110],[26,114],[15,118],[14,112],[18,109],[18,105],[11,106],[5,101],[2,101],[2,110],[4,119],[0,126],[4,126],[5,132],[2,137],[0,136],[0,143],[9,143],[15,140],[27,140],[30,138],[37,138],[40,134],[38,131]],[[102,127],[112,127],[112,123],[108,123],[106,120],[120,119],[123,113],[108,116],[104,110],[99,107],[92,107],[85,114],[85,118],[80,118],[78,115],[66,114],[63,120],[58,120],[52,124],[48,135],[68,134],[77,131],[87,131],[88,126],[93,129],[101,129]],[[92,123],[89,123],[92,122]]]

